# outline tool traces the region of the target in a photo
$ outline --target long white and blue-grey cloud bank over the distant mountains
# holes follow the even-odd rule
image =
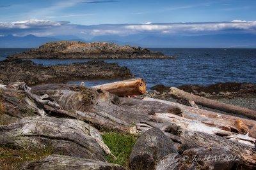
[[[220,34],[220,33],[251,33],[256,34],[256,21],[233,20],[231,22],[200,22],[200,23],[151,23],[145,24],[104,24],[77,25],[66,21],[24,20],[16,22],[0,22],[0,34],[26,36],[59,36],[74,35],[83,38],[93,36],[131,34]]]

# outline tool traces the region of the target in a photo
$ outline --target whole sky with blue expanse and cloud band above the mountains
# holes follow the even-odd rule
[[[256,34],[255,0],[0,0],[0,36]]]

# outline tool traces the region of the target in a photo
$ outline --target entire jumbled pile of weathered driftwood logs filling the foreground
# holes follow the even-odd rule
[[[202,104],[202,99],[181,96],[183,92],[179,97],[188,99],[193,107],[148,97],[124,97],[145,92],[141,79],[93,88],[63,84],[29,88],[20,82],[0,88],[2,114],[14,117],[13,124],[0,126],[0,145],[51,145],[55,154],[27,162],[22,169],[124,169],[106,162],[105,155],[115,156],[103,143],[97,131],[100,127],[141,134],[129,159],[131,169],[256,167],[252,110],[239,108],[233,113],[254,120],[201,110],[196,104]],[[30,115],[20,111],[24,109],[31,110]]]

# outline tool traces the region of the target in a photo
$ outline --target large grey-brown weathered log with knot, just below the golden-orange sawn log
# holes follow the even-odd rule
[[[102,90],[74,85],[40,85],[36,94],[48,94],[61,109],[44,104],[52,116],[78,118],[93,125],[122,132],[136,133],[134,124],[149,120],[154,113],[180,114],[180,109],[168,104],[118,97]]]

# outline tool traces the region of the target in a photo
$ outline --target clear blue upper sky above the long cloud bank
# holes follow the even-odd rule
[[[1,0],[0,21],[53,20],[72,24],[141,24],[145,22],[220,22],[255,20],[256,1],[84,1]]]

